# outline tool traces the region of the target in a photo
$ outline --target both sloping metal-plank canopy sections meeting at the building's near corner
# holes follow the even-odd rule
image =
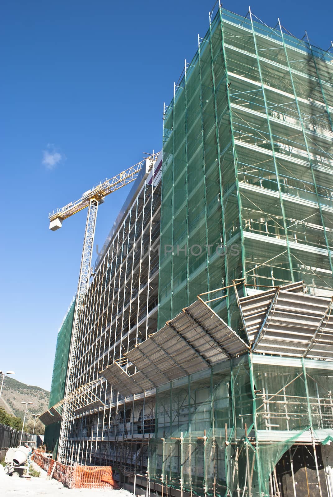
[[[243,281],[235,282],[234,288],[248,344],[199,296],[161,330],[126,352],[121,365],[113,362],[101,374],[128,396],[248,350],[288,357],[333,357],[333,297],[307,295],[301,281],[239,298],[240,284]],[[210,293],[216,291],[221,289]],[[128,365],[135,366],[134,374],[128,374]]]

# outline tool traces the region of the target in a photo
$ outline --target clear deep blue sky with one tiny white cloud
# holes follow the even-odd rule
[[[0,370],[49,389],[57,331],[76,290],[86,212],[48,230],[48,213],[162,145],[184,59],[213,1],[1,2]],[[253,1],[266,24],[329,48],[332,3]],[[247,1],[223,6],[245,15]],[[95,247],[129,187],[101,206]],[[94,259],[96,257],[94,253]]]

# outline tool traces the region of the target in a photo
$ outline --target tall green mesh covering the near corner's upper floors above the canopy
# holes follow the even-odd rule
[[[331,59],[218,10],[165,111],[159,328],[233,278],[332,288]]]

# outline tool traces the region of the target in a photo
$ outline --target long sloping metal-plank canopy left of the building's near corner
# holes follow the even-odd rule
[[[114,362],[101,371],[124,396],[186,376],[238,355],[249,346],[201,299],[161,330],[127,352],[137,372],[129,376]]]

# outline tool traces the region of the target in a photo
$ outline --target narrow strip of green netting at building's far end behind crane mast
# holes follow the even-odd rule
[[[63,324],[59,330],[56,352],[53,364],[53,375],[49,408],[60,402],[65,395],[66,375],[68,366],[69,349],[71,345],[72,326],[74,319],[75,300],[69,308]],[[49,450],[56,453],[60,434],[60,422],[45,426],[44,442]]]

